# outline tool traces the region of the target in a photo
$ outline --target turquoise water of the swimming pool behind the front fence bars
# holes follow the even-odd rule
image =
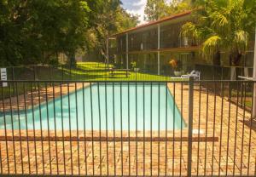
[[[130,103],[129,109],[128,101]],[[70,111],[68,109],[69,105]],[[35,106],[33,111],[32,109],[26,112],[20,111],[20,117],[17,112],[13,116],[6,113],[6,128],[12,128],[11,120],[13,119],[14,128],[19,129],[20,119],[21,129],[26,129],[26,120],[28,129],[33,129],[33,126],[35,129],[40,129],[40,115],[42,128],[50,130],[55,128],[57,130],[62,128],[65,130],[75,130],[77,128],[83,130],[84,124],[85,129],[88,130],[92,129],[92,126],[94,130],[99,130],[100,125],[102,130],[106,130],[106,122],[108,123],[108,130],[112,130],[113,125],[115,130],[120,130],[121,120],[123,130],[128,130],[129,123],[130,130],[143,130],[143,117],[146,130],[151,129],[151,123],[152,130],[158,130],[159,126],[160,130],[166,130],[166,122],[168,130],[180,129],[186,126],[173,101],[172,94],[166,89],[166,84],[153,84],[151,88],[150,84],[145,83],[143,88],[143,83],[137,83],[137,86],[135,83],[130,83],[129,89],[128,83],[122,83],[122,87],[120,83],[93,84],[91,89],[87,87],[79,89],[77,94],[75,92],[70,93],[69,99],[65,95],[62,96],[62,101],[60,97],[56,98],[55,101],[50,100],[48,104],[41,104],[40,107]],[[4,128],[3,120],[2,113],[0,114],[0,128],[2,129]],[[91,123],[91,120],[93,120],[93,123]]]

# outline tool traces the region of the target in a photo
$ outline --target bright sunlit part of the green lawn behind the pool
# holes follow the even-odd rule
[[[108,67],[112,67],[109,65]],[[51,77],[44,71],[38,73],[38,80],[77,80],[77,81],[175,81],[181,80],[171,79],[171,77],[158,76],[142,72],[129,71],[128,77],[122,71],[115,71],[115,75],[106,70],[103,63],[86,62],[78,63],[76,68],[58,67],[52,70]]]

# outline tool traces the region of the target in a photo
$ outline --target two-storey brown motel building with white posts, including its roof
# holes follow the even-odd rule
[[[108,62],[117,68],[131,69],[136,62],[137,71],[175,76],[170,60],[180,64],[180,74],[190,71],[201,71],[207,79],[236,79],[237,76],[252,77],[253,75],[253,39],[249,49],[241,55],[236,67],[231,64],[230,54],[220,51],[214,57],[200,54],[200,43],[195,39],[183,37],[183,24],[192,20],[191,11],[175,14],[162,20],[149,22],[108,37]]]

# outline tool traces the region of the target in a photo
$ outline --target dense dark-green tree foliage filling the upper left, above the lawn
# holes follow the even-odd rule
[[[137,25],[119,0],[1,0],[0,65],[49,63],[101,48],[113,31]],[[95,42],[95,43],[94,43]]]

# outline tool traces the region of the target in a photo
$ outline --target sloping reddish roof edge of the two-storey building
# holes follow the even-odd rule
[[[157,25],[157,24],[166,22],[166,21],[175,20],[175,19],[178,19],[178,18],[180,18],[180,17],[187,16],[187,15],[191,14],[191,12],[192,12],[192,11],[189,10],[189,11],[186,11],[186,12],[183,12],[183,13],[179,13],[179,14],[174,14],[174,15],[172,15],[172,16],[168,16],[168,17],[163,18],[163,19],[161,19],[161,20],[150,21],[150,22],[148,22],[148,23],[146,23],[146,24],[143,24],[143,25],[141,25],[141,26],[136,26],[136,27],[130,28],[130,29],[128,29],[128,30],[119,32],[119,33],[117,33],[117,34],[113,34],[113,35],[110,36],[110,37],[116,37],[116,36],[125,34],[125,33],[127,33],[127,32],[136,31],[136,30],[138,30],[138,29],[142,29],[142,28],[145,28],[145,27],[148,27],[148,26],[154,26],[154,25]]]

